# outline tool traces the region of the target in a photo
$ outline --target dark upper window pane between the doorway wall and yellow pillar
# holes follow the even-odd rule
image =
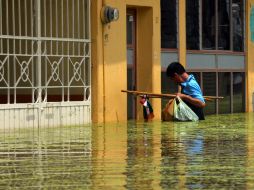
[[[161,0],[161,48],[177,48],[176,0]]]

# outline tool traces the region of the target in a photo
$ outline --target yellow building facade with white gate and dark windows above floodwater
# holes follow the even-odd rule
[[[119,19],[103,23],[103,7]],[[253,111],[253,0],[0,0],[0,123],[78,125],[141,119],[121,90],[174,93],[181,62],[206,114]],[[151,100],[155,119],[165,101]]]

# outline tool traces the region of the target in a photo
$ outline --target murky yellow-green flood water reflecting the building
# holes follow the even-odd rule
[[[254,114],[0,130],[0,189],[253,189]]]

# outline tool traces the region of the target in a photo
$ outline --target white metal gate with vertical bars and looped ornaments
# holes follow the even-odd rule
[[[90,58],[90,0],[0,0],[0,122],[90,122]]]

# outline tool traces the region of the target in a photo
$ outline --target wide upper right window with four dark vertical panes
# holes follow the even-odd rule
[[[244,51],[243,0],[187,0],[189,50]]]

